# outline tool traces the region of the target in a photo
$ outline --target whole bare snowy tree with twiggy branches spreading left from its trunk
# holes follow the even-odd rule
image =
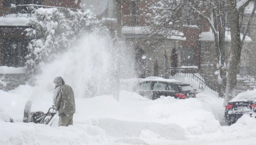
[[[181,30],[183,21],[190,21],[188,17],[183,17],[182,13],[195,14],[204,19],[211,27],[214,34],[214,46],[218,56],[218,93],[224,97],[226,84],[226,64],[225,64],[225,17],[226,0],[153,0],[153,22],[152,30],[154,34],[172,35]],[[184,11],[184,9],[187,9]],[[151,15],[150,15],[151,16]]]

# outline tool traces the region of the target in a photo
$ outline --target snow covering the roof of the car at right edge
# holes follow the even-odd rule
[[[253,90],[247,90],[244,92],[241,92],[237,94],[233,99],[231,99],[229,102],[235,102],[235,101],[256,101],[256,89]]]

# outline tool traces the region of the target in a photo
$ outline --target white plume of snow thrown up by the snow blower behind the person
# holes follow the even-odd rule
[[[50,93],[54,88],[53,79],[62,76],[73,87],[76,97],[111,93],[112,72],[115,71],[113,57],[116,57],[112,53],[114,49],[111,38],[106,34],[83,34],[72,48],[57,54],[52,62],[41,64],[40,73],[35,77],[35,89]],[[125,55],[128,56],[127,53]],[[118,57],[123,63],[128,60],[121,54]],[[126,67],[127,63],[123,63],[122,66]],[[131,66],[127,68],[122,69],[131,74]]]

